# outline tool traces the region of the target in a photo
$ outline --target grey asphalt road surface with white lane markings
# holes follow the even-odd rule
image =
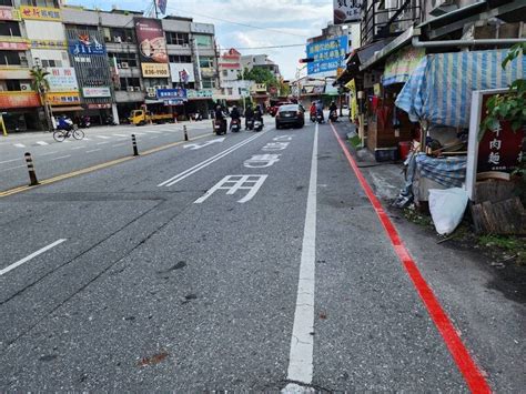
[[[332,128],[266,124],[193,125],[208,137],[0,199],[0,388],[524,390],[524,310],[461,319],[502,306],[401,262]],[[28,144],[52,178],[129,155],[128,131]]]

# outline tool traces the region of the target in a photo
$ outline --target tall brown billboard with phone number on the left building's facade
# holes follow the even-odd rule
[[[142,77],[169,78],[166,39],[161,21],[159,19],[135,18],[134,23]]]

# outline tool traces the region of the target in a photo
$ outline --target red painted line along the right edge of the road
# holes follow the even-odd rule
[[[455,330],[449,317],[447,316],[446,312],[444,311],[441,303],[433,293],[433,290],[429,287],[424,276],[422,276],[422,273],[416,266],[413,257],[405,247],[404,242],[401,240],[396,228],[385,213],[382,203],[368,185],[362,171],[357,166],[356,161],[348,152],[345,142],[338,135],[336,129],[332,123],[331,128],[333,129],[334,135],[336,137],[340,147],[342,148],[345,156],[347,158],[351,168],[353,169],[356,178],[358,179],[360,184],[365,191],[365,194],[371,201],[371,204],[373,204],[374,210],[376,211],[376,214],[378,215],[378,219],[382,222],[398,259],[401,260],[402,264],[405,267],[405,271],[409,275],[409,279],[413,282],[418,295],[421,296],[422,302],[427,309],[431,319],[433,320],[436,329],[441,333],[442,339],[444,340],[447,348],[449,350],[451,355],[455,360],[458,370],[464,375],[464,380],[466,381],[467,386],[473,393],[490,393],[492,390],[489,388],[486,378],[484,377],[483,373],[478,368],[473,357],[469,355],[469,352],[467,351],[466,346],[458,336],[458,333]]]

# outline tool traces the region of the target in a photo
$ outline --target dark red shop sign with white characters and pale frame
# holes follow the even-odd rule
[[[466,190],[473,200],[476,174],[486,171],[513,172],[523,160],[525,128],[513,131],[508,121],[499,121],[478,140],[481,124],[486,119],[486,103],[496,94],[506,94],[506,89],[478,90],[472,95],[469,141],[467,144]]]

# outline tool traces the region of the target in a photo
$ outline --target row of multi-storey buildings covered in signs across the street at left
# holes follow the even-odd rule
[[[110,115],[125,120],[143,105],[206,115],[212,97],[220,93],[214,34],[213,24],[190,18],[143,18],[58,0],[1,0],[0,109],[6,127],[44,128],[44,104],[53,115],[90,115],[94,124]],[[43,98],[31,87],[30,71],[37,67],[50,73]]]

